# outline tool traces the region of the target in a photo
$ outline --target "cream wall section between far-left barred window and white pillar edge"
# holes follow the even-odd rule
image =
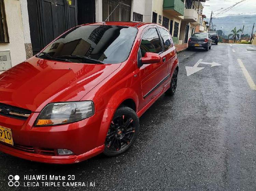
[[[10,50],[12,66],[15,66],[26,60],[20,1],[7,0],[4,4],[10,43],[0,43],[0,50]]]

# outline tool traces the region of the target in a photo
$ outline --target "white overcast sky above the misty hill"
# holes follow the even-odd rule
[[[227,8],[241,0],[206,0],[204,5],[210,5],[210,6],[204,6],[203,14],[206,15],[207,18],[211,17],[211,11],[214,11],[213,13],[218,13],[220,8]],[[217,11],[219,10],[219,11]],[[256,15],[256,0],[245,0],[238,5],[236,5],[232,10],[226,12],[225,14],[220,14],[217,17],[225,17],[228,16],[227,14],[237,14],[237,13],[251,13]]]

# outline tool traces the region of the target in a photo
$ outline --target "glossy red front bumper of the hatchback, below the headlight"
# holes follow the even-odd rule
[[[0,151],[27,160],[70,164],[104,151],[105,137],[113,109],[96,112],[85,120],[54,126],[34,127],[39,113],[24,120],[0,115],[0,126],[12,130],[14,146],[0,142]],[[58,155],[57,149],[71,150],[74,155]]]

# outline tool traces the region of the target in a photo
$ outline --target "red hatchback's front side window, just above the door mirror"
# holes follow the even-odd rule
[[[146,52],[160,53],[162,52],[161,42],[158,37],[156,28],[148,29],[141,40],[141,55],[144,57]]]

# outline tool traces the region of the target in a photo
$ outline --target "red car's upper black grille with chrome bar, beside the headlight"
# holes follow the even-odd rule
[[[30,114],[31,111],[28,109],[0,103],[0,115],[2,116],[26,120]]]

